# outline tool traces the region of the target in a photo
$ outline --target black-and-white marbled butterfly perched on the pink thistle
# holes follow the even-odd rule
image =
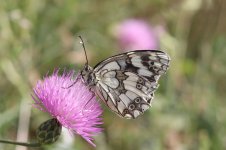
[[[79,38],[86,56],[81,71],[83,82],[119,116],[135,119],[143,114],[151,106],[170,57],[159,50],[134,50],[109,57],[92,68]]]

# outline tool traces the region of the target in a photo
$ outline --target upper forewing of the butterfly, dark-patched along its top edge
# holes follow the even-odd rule
[[[170,57],[159,50],[130,51],[103,60],[94,67],[94,72],[124,70],[157,82],[168,69],[169,61]]]

